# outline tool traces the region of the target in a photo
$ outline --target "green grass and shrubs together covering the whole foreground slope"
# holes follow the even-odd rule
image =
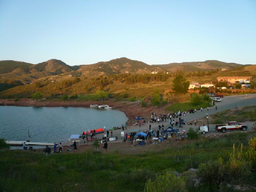
[[[121,190],[194,192],[218,191],[223,181],[255,186],[255,137],[248,144],[252,135],[255,132],[236,132],[225,138],[200,138],[175,147],[170,143],[165,150],[142,154],[85,151],[47,157],[33,151],[1,151],[0,189],[108,192],[125,186]],[[202,185],[195,187],[187,175],[177,178],[170,173],[190,168],[198,168]]]

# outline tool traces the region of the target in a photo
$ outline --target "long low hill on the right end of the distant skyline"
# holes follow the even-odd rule
[[[244,66],[237,63],[226,63],[217,60],[206,60],[206,61],[197,61],[197,62],[183,62],[183,63],[169,63],[165,65],[154,65],[162,67],[170,72],[175,72],[177,70],[182,70],[185,72],[193,72],[198,70],[212,70],[212,69],[233,69],[237,67]]]

